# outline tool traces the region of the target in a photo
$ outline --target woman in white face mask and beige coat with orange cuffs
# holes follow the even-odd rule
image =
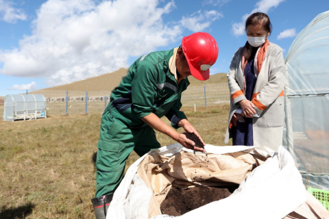
[[[254,13],[245,23],[247,42],[233,56],[228,71],[231,110],[225,143],[268,146],[282,144],[285,64],[282,49],[271,42],[271,22]]]

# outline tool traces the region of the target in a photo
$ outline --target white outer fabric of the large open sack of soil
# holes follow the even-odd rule
[[[263,146],[205,146],[207,153],[225,154],[237,151],[249,153],[256,149],[258,154],[271,155],[266,162],[255,168],[239,188],[228,198],[199,207],[178,218],[284,218],[305,203],[306,191],[302,177],[295,168],[293,158],[280,147],[278,153]],[[184,149],[180,144],[164,146],[156,151],[170,157]],[[151,190],[136,174],[138,166],[148,154],[138,159],[127,170],[123,181],[114,192],[107,218],[147,219]],[[321,205],[321,204],[319,204]],[[166,215],[155,217],[168,218]]]

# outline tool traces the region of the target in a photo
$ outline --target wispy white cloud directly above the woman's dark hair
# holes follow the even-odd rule
[[[267,12],[269,12],[269,10],[271,10],[272,8],[278,7],[278,5],[282,1],[284,1],[284,0],[260,0],[260,1],[258,1],[255,5],[256,8],[254,8],[254,10],[252,10],[252,12],[250,12],[249,14],[243,15],[240,23],[234,23],[232,25],[232,33],[235,36],[241,36],[241,35],[245,34],[245,21],[247,20],[247,18],[250,14],[254,14],[255,12],[263,12],[263,13],[267,14]]]

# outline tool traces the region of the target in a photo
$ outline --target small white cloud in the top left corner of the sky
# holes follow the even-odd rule
[[[16,23],[17,20],[26,21],[27,17],[23,10],[14,8],[12,1],[0,0],[0,20],[7,23]]]

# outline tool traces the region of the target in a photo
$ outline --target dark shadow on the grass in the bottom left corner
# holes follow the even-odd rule
[[[25,218],[32,213],[36,205],[32,203],[26,203],[19,207],[7,207],[5,205],[0,207],[0,218],[15,219],[15,218]]]

